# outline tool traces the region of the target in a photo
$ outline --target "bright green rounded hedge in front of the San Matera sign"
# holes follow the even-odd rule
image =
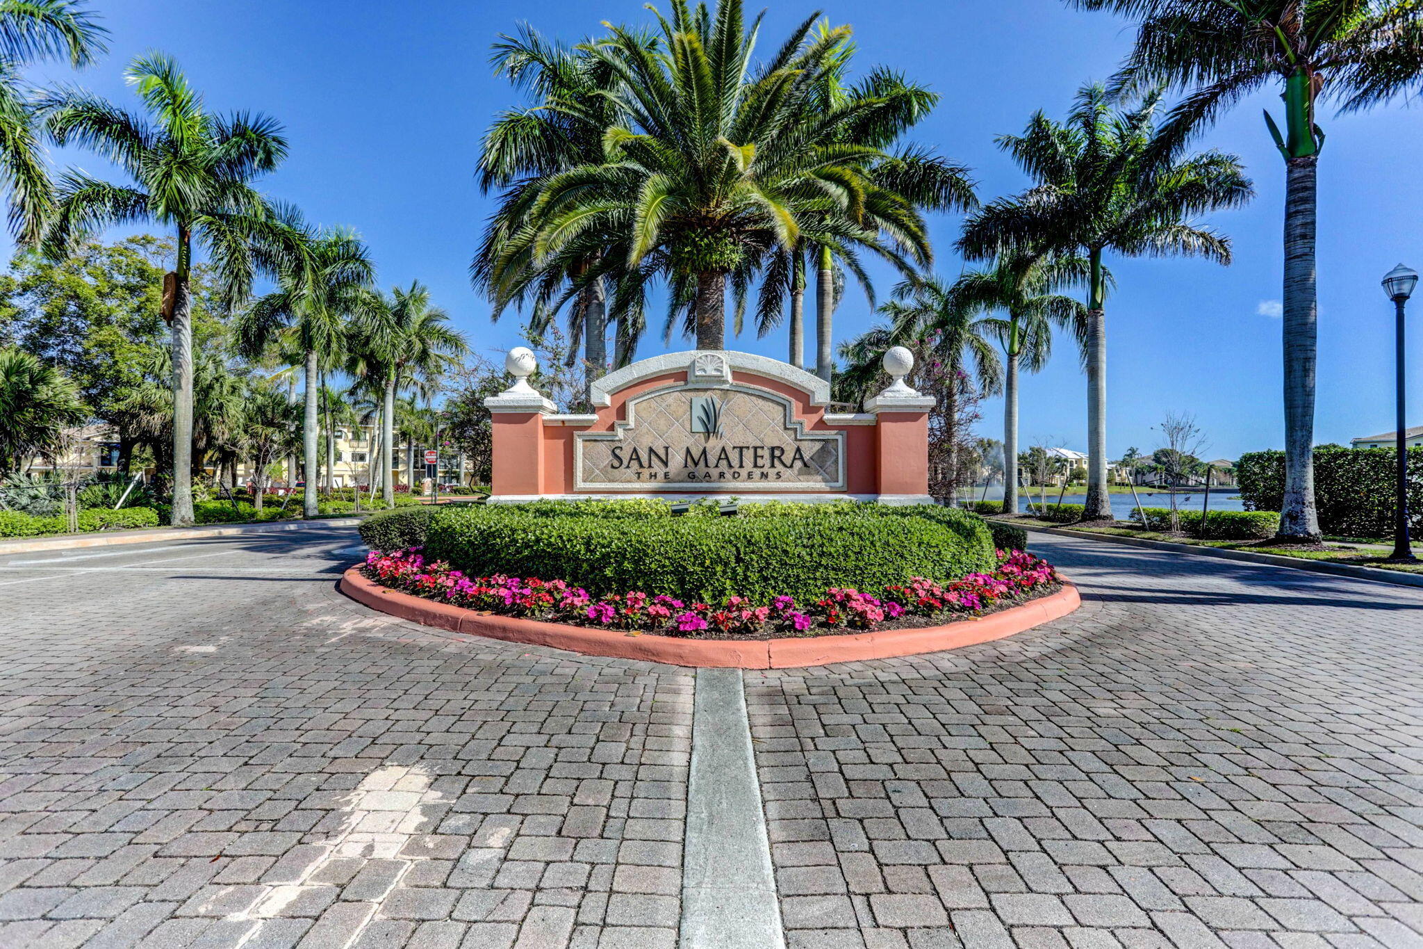
[[[746,516],[673,518],[642,502],[556,504],[441,511],[428,522],[427,553],[472,575],[709,602],[733,593],[757,602],[818,598],[831,586],[874,590],[912,576],[951,580],[995,563],[982,518],[936,505],[766,504],[746,505]],[[361,535],[381,548],[367,536],[376,519]]]

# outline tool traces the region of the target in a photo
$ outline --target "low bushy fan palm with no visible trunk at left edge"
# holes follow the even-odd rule
[[[18,347],[0,349],[0,478],[53,454],[64,430],[87,417],[78,387],[60,370]]]

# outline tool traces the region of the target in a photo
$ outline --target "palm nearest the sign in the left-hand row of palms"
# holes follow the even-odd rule
[[[380,413],[380,471],[386,505],[396,504],[394,428],[396,396],[401,388],[428,384],[462,356],[468,346],[447,326],[450,314],[430,303],[430,290],[418,280],[408,289],[363,295],[350,369],[369,377],[383,393]]]

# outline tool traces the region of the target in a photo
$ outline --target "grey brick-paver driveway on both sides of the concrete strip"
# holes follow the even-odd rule
[[[676,945],[694,674],[370,613],[354,544],[0,558],[0,946]],[[1036,549],[1076,615],[746,674],[787,945],[1423,945],[1423,590]]]

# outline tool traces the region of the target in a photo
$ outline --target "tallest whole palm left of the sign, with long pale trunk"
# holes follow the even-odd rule
[[[213,115],[178,64],[162,54],[134,60],[128,83],[148,117],[78,88],[46,95],[40,110],[60,145],[84,145],[118,165],[132,185],[83,171],[60,181],[44,246],[61,256],[107,225],[154,221],[175,229],[178,260],[164,280],[172,323],[172,524],[192,524],[192,273],[194,242],[218,272],[228,303],[246,296],[258,270],[280,256],[268,203],[252,179],[286,157],[282,128],[258,114]]]

